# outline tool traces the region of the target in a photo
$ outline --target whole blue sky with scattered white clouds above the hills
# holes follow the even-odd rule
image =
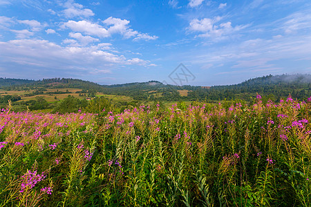
[[[0,77],[215,86],[296,73],[311,73],[310,0],[0,0]]]

